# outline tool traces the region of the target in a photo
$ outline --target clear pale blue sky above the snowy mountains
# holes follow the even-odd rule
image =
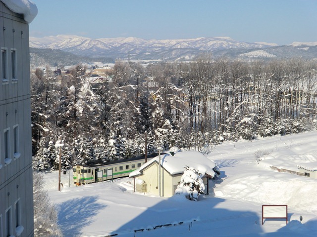
[[[317,41],[317,0],[32,0],[30,36]]]

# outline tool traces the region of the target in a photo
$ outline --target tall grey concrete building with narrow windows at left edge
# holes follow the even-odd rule
[[[0,237],[34,236],[28,24],[37,8],[26,2],[0,0]]]

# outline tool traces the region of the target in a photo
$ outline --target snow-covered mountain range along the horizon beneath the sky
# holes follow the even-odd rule
[[[214,57],[230,58],[285,58],[290,56],[317,58],[317,42],[294,42],[278,46],[266,42],[240,42],[229,37],[180,40],[144,40],[134,37],[90,39],[79,36],[58,35],[44,38],[30,37],[30,47],[58,49],[90,58],[189,61],[204,52]],[[32,51],[31,51],[32,52]]]

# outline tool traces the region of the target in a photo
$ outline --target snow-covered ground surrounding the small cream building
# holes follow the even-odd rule
[[[255,154],[265,154],[257,161]],[[317,180],[282,173],[317,161],[317,131],[254,141],[224,142],[208,155],[221,171],[199,201],[133,194],[129,178],[75,187],[70,174],[44,175],[65,237],[317,236]],[[263,204],[287,204],[285,219],[266,219]],[[300,216],[303,217],[300,222]]]

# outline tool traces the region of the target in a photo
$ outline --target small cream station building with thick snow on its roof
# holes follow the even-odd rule
[[[174,156],[164,154],[160,158],[153,158],[133,171],[130,178],[134,178],[137,192],[171,197],[175,193],[186,166],[194,167],[204,175],[203,180],[207,185],[206,193],[208,193],[208,179],[217,177],[219,171],[212,160],[199,152],[177,152]]]

